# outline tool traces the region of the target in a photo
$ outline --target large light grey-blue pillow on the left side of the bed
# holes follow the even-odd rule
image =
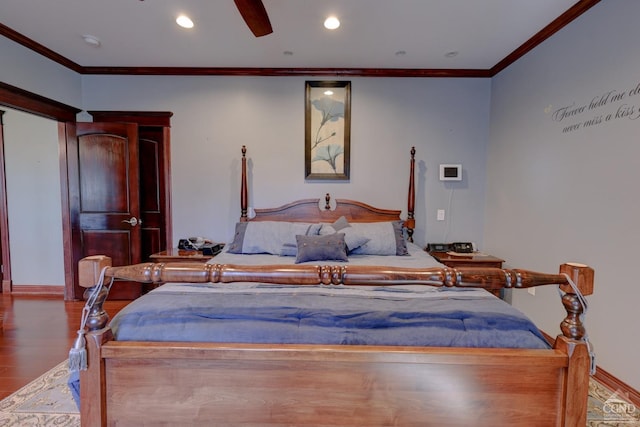
[[[249,221],[236,224],[228,252],[280,255],[283,245],[296,244],[296,235],[317,235],[320,224],[287,221]]]

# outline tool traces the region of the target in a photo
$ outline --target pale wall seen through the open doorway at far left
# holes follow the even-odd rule
[[[58,122],[2,109],[11,280],[63,285]]]

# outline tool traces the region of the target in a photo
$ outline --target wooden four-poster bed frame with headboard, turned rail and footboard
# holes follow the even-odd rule
[[[411,155],[409,218],[413,229]],[[251,220],[398,219],[400,211],[338,200],[319,210],[310,199],[256,209]],[[242,220],[247,218],[243,147]],[[328,201],[327,201],[327,204]],[[167,263],[109,267],[107,257],[80,262],[81,283],[107,278],[162,282],[259,281],[296,284],[425,283],[527,288],[559,284],[567,311],[553,349],[362,345],[268,345],[113,340],[102,291],[87,322],[88,368],[80,371],[81,420],[112,425],[215,426],[584,426],[590,353],[583,307],[593,270],[563,264],[561,274],[478,268],[380,266],[235,266]],[[89,292],[89,290],[88,290]]]

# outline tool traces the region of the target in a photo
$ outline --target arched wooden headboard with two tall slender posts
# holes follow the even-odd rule
[[[407,203],[407,218],[404,226],[407,237],[413,241],[413,229],[415,228],[415,147],[411,148],[411,160],[409,163],[409,192]],[[240,186],[240,221],[291,221],[291,222],[333,222],[344,216],[349,222],[382,222],[397,221],[402,219],[400,210],[380,209],[366,203],[349,199],[336,199],[332,206],[331,196],[326,194],[324,201],[321,199],[304,199],[288,203],[277,208],[255,209],[255,216],[249,218],[248,190],[247,190],[247,148],[242,146],[242,183]],[[333,209],[332,209],[333,208]]]

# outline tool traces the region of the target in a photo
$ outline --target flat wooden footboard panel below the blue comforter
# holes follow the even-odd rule
[[[216,345],[92,333],[82,425],[583,426],[586,345]],[[90,390],[85,390],[90,388]]]

